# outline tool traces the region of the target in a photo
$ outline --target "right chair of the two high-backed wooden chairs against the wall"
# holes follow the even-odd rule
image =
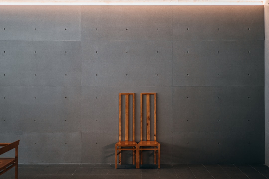
[[[143,141],[143,95],[146,95],[146,141]],[[154,95],[154,124],[150,123],[150,95]],[[150,140],[150,125],[154,125],[154,140]],[[140,152],[140,163],[142,161],[142,151],[153,150],[154,151],[154,164],[156,164],[156,155],[158,155],[158,168],[160,168],[160,143],[156,141],[156,93],[140,93],[140,142],[138,143],[138,149]]]

